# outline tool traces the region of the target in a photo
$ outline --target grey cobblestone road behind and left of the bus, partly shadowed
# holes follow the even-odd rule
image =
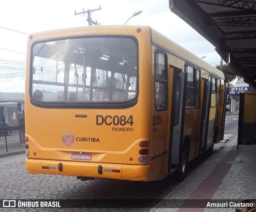
[[[112,179],[85,181],[74,176],[28,174],[25,167],[25,155],[11,155],[0,158],[0,200],[92,200],[102,208],[0,208],[0,211],[149,211],[146,204],[134,207],[132,200],[154,200],[166,189],[173,186],[170,179],[156,182],[132,182]],[[109,202],[106,201],[109,199]],[[120,199],[118,202],[117,199]],[[128,199],[128,200],[127,200]],[[130,202],[130,199],[131,202]],[[104,202],[102,203],[101,202]],[[113,201],[114,200],[114,201]],[[115,200],[117,200],[115,202]],[[2,202],[0,202],[1,205]],[[90,203],[90,202],[89,202]],[[107,204],[113,206],[104,207]],[[116,205],[113,205],[116,204]],[[126,205],[127,204],[127,205]],[[136,202],[137,204],[137,202]],[[138,205],[140,205],[139,202]],[[120,207],[125,206],[125,207]],[[132,206],[130,206],[132,205]]]

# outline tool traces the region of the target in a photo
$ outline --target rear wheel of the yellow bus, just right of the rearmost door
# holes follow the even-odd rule
[[[186,137],[184,140],[184,144],[182,146],[182,151],[180,154],[180,162],[179,162],[179,177],[180,180],[184,180],[188,171],[188,158],[190,152],[190,138]]]

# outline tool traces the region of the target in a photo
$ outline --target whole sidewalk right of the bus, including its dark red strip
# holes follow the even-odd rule
[[[229,207],[232,200],[256,199],[256,144],[237,150],[237,139],[236,134],[226,144],[216,144],[221,149],[150,212],[234,212]],[[206,207],[208,202],[224,202],[227,207]]]

